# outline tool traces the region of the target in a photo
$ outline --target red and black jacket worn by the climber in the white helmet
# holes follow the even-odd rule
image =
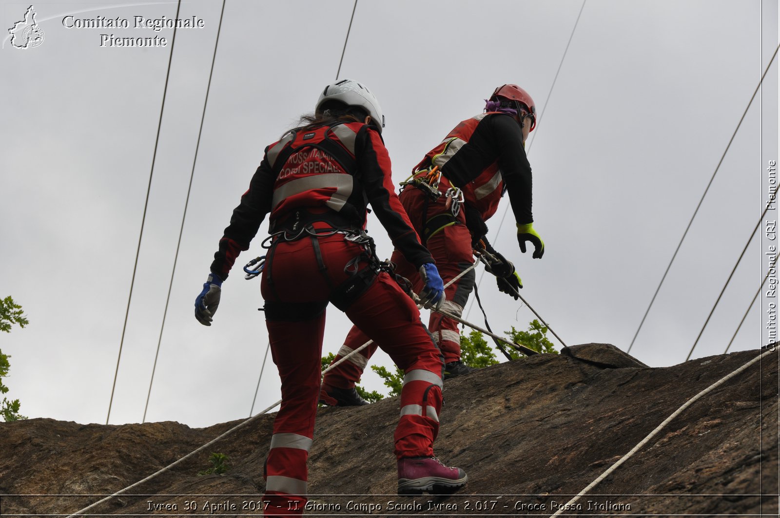
[[[367,204],[410,263],[419,268],[434,262],[395,194],[390,157],[379,133],[362,122],[286,133],[266,147],[225,228],[211,271],[225,280],[269,213],[271,232],[301,210],[321,213],[326,221],[327,215],[339,214],[360,229],[366,224]]]

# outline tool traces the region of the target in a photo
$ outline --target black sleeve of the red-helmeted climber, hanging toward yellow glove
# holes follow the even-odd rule
[[[523,147],[523,131],[508,115],[494,115],[488,120],[493,141],[498,147],[498,168],[509,193],[515,221],[520,225],[532,223],[533,182],[531,165]]]

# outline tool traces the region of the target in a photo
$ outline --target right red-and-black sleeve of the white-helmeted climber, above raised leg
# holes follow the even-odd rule
[[[358,179],[395,248],[416,268],[434,262],[431,253],[420,244],[420,238],[395,194],[390,157],[379,133],[363,126],[356,136],[355,156]]]

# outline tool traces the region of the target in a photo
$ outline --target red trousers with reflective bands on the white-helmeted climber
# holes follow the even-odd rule
[[[362,251],[342,234],[280,240],[269,250],[261,289],[271,354],[282,379],[282,406],[266,461],[265,514],[303,513],[320,394],[325,307],[349,279],[347,263]],[[366,266],[365,261],[359,264]],[[433,456],[444,363],[417,306],[382,272],[346,307],[346,314],[368,336],[381,339],[382,349],[406,372],[395,455]]]

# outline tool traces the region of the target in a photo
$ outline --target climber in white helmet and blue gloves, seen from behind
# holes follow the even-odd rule
[[[362,84],[325,87],[314,115],[265,150],[219,242],[195,316],[211,325],[222,282],[269,215],[261,293],[271,353],[282,379],[282,406],[266,461],[267,515],[302,514],[307,458],[320,394],[325,307],[331,302],[406,373],[395,429],[400,495],[453,491],[459,468],[434,457],[443,360],[417,306],[374,255],[364,232],[370,203],[399,254],[419,275],[425,307],[440,307],[443,282],[393,189],[381,139],[384,117]]]

